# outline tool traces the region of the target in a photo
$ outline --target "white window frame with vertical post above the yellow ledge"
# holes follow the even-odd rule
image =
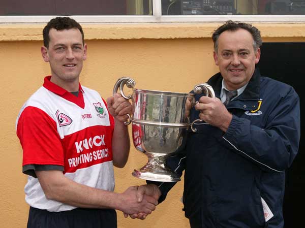
[[[153,1],[153,15],[148,16],[103,16],[103,15],[70,15],[79,23],[156,23],[156,22],[224,22],[238,20],[243,22],[276,22],[305,23],[305,15],[162,15],[161,0]],[[52,16],[0,16],[4,23],[46,23]]]

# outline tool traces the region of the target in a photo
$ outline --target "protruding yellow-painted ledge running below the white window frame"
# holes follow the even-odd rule
[[[85,40],[210,38],[222,23],[82,24]],[[305,38],[305,23],[253,23],[262,38]],[[41,41],[45,24],[1,24],[0,41]]]

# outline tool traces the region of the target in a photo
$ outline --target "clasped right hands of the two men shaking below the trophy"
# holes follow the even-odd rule
[[[131,186],[119,194],[121,201],[117,209],[123,211],[124,217],[145,219],[148,214],[156,209],[161,191],[155,184]]]

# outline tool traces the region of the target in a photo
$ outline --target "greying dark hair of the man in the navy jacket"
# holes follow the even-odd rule
[[[223,25],[218,27],[212,34],[212,40],[214,42],[214,50],[218,50],[218,38],[224,31],[236,31],[237,29],[245,29],[250,32],[253,37],[253,48],[257,50],[262,45],[262,39],[260,36],[260,31],[254,27],[252,24],[242,23],[239,21],[226,21]]]

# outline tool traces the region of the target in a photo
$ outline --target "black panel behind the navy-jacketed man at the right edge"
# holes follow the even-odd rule
[[[285,82],[296,90],[300,97],[301,140],[297,156],[292,166],[286,171],[286,190],[284,198],[285,228],[303,228],[305,205],[305,87],[303,67],[305,66],[305,43],[263,43],[261,58],[257,66],[261,74]],[[299,208],[299,209],[297,209]],[[299,224],[299,225],[298,225]]]

